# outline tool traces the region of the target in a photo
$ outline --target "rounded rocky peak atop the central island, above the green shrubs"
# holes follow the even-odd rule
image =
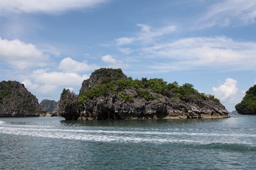
[[[123,74],[121,69],[98,69],[95,70],[89,79],[86,79],[82,82],[82,87],[80,89],[80,93],[87,90],[90,86],[95,86],[102,78],[109,77],[112,80],[118,80],[120,78],[127,78],[125,74]]]

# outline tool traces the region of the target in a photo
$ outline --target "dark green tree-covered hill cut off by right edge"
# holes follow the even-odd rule
[[[239,114],[256,114],[256,84],[246,91],[241,103],[236,105]]]

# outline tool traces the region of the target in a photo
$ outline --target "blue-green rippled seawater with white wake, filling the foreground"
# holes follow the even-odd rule
[[[256,115],[0,118],[0,169],[256,169]]]

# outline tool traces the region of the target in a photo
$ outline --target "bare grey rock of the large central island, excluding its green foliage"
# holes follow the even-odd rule
[[[108,69],[105,69],[108,70]],[[109,69],[110,70],[110,69]],[[96,70],[89,79],[82,83],[81,92],[90,86],[96,86],[103,78],[112,80],[127,78],[123,73],[114,76],[112,72]],[[144,79],[146,80],[146,79]],[[101,84],[101,83],[100,83]],[[182,100],[174,91],[168,91],[165,96],[147,90],[154,99],[146,100],[137,94],[135,88],[115,86],[117,93],[108,92],[105,95],[79,102],[79,96],[69,90],[63,90],[59,105],[59,114],[66,120],[106,120],[106,119],[156,119],[156,118],[225,118],[230,117],[224,105],[202,97],[196,99],[185,95]],[[122,90],[122,92],[120,92]],[[128,96],[123,100],[122,96]]]

